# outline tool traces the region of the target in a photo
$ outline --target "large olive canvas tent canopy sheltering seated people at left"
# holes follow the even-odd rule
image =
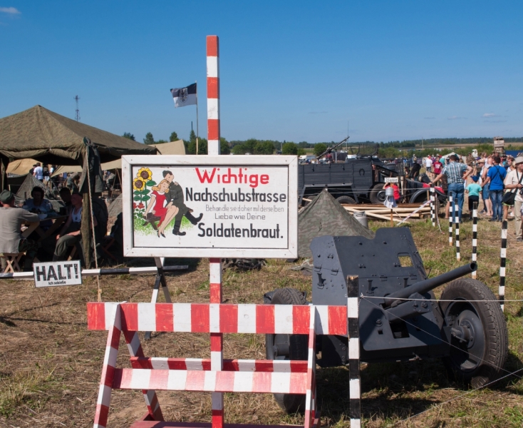
[[[0,119],[0,180],[7,188],[6,170],[11,161],[32,158],[41,163],[82,165],[84,209],[82,210],[82,235],[86,264],[90,265],[90,189],[101,191],[100,163],[115,161],[123,155],[155,155],[156,148],[136,143],[128,138],[73,121],[34,106],[28,110]],[[84,230],[85,228],[85,230]]]

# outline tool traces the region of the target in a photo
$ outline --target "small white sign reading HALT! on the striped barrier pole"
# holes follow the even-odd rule
[[[82,284],[80,260],[33,263],[33,273],[36,287]]]

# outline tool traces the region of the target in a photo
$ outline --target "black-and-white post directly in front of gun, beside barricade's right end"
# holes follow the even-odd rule
[[[347,277],[349,416],[351,428],[361,428],[360,334],[358,277]]]

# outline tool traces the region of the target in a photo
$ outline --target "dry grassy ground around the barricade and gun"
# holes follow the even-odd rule
[[[430,276],[470,260],[471,223],[460,229],[462,262],[442,232],[419,221],[411,228]],[[385,223],[371,223],[376,229]],[[509,223],[507,299],[522,299],[522,248]],[[499,223],[479,224],[478,279],[497,295]],[[207,260],[167,260],[189,263],[190,270],[168,277],[175,302],[207,302]],[[152,263],[151,263],[152,264]],[[296,287],[310,294],[310,277],[289,270],[281,260],[267,260],[256,272],[224,272],[224,301],[262,303],[263,294],[276,287]],[[102,277],[103,300],[150,301],[154,277]],[[436,292],[440,294],[443,287]],[[96,300],[96,280],[78,287],[35,289],[33,282],[0,282],[0,427],[92,426],[100,382],[106,332],[86,328],[86,302]],[[161,294],[161,293],[160,293]],[[161,299],[163,300],[163,299]],[[507,302],[510,372],[523,367],[523,305]],[[141,336],[143,339],[143,336]],[[209,335],[155,334],[142,341],[145,355],[209,357]],[[226,335],[226,358],[264,358],[261,335]],[[125,342],[120,342],[119,367],[130,367]],[[523,372],[490,387],[470,392],[452,382],[440,360],[362,365],[362,411],[365,427],[522,427]],[[348,372],[343,368],[319,370],[319,406],[322,423],[348,427]],[[159,392],[167,420],[209,421],[210,394]],[[145,413],[139,391],[115,391],[109,427],[128,427]],[[227,422],[254,424],[303,423],[303,415],[286,415],[267,394],[226,394]],[[410,418],[410,419],[409,419]]]

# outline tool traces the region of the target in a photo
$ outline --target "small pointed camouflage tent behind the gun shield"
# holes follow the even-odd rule
[[[298,214],[299,257],[312,257],[311,240],[324,235],[374,238],[374,233],[353,218],[326,190]]]

